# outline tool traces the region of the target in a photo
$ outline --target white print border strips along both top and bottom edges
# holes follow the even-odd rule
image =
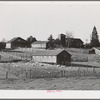
[[[23,1],[0,1],[2,3],[23,3]],[[24,1],[24,3],[31,3],[33,1]],[[44,3],[44,1],[34,1],[36,3]],[[66,1],[47,1],[45,3],[66,3]],[[67,1],[70,4],[97,4],[100,5],[100,1]],[[0,99],[99,99],[100,91],[80,91],[80,90],[62,90],[61,92],[52,91],[50,93],[47,90],[0,90]]]

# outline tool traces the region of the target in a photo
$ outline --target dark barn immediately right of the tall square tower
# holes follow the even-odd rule
[[[66,38],[66,46],[73,47],[73,48],[82,48],[83,41],[79,38]]]

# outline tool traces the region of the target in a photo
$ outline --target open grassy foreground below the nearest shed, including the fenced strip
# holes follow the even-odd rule
[[[0,63],[0,89],[99,90],[100,68],[59,67],[30,62]]]

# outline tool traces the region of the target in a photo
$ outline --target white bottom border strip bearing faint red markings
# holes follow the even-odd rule
[[[48,93],[46,90],[2,90],[0,99],[99,99],[100,91],[62,91]]]

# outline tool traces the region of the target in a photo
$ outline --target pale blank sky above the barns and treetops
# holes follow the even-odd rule
[[[100,38],[100,1],[0,1],[0,41],[71,32],[86,43],[94,26]]]

